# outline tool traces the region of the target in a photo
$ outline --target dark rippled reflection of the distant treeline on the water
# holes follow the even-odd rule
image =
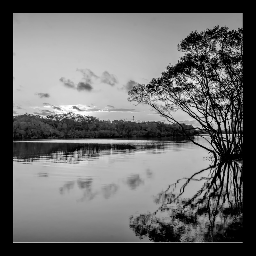
[[[145,145],[130,144],[81,144],[81,143],[13,143],[13,161],[29,164],[42,159],[53,163],[76,164],[90,158],[99,158],[101,154],[134,153],[135,150],[164,151],[161,142]]]

